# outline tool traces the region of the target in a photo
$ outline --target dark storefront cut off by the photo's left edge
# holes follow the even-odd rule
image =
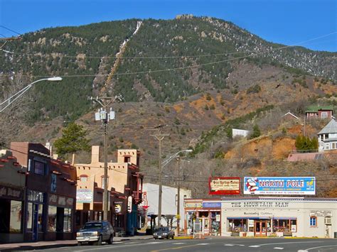
[[[26,168],[9,150],[0,150],[0,243],[23,241]]]

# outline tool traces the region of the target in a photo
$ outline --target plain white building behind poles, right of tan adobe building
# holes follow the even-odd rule
[[[144,196],[146,195],[146,196]],[[176,216],[177,213],[177,195],[178,190],[176,187],[168,187],[163,185],[162,195],[161,195],[161,214],[162,216],[171,215]],[[191,190],[186,190],[184,188],[180,189],[180,226],[183,227],[183,220],[185,219],[185,212],[183,208],[183,199],[191,198]],[[148,206],[147,214],[158,214],[158,203],[159,203],[159,185],[144,183],[143,184],[143,202],[144,206]],[[176,218],[173,220],[173,226],[176,226]],[[158,218],[156,218],[156,223],[158,223]],[[168,226],[165,218],[161,218],[161,224],[163,226]]]

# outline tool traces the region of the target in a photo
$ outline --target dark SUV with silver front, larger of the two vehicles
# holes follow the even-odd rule
[[[89,221],[77,231],[78,246],[87,242],[90,245],[102,245],[102,241],[111,244],[114,239],[114,228],[109,221]]]

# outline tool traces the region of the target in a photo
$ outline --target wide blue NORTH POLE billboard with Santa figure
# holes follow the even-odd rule
[[[315,195],[315,177],[245,177],[245,195]]]

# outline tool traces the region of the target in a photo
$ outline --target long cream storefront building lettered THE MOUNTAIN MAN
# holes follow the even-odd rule
[[[333,238],[337,199],[309,197],[224,198],[222,236]]]

